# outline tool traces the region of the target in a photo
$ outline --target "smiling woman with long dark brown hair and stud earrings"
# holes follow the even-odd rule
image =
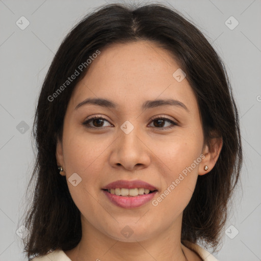
[[[239,179],[238,112],[216,51],[175,10],[86,16],[51,63],[34,135],[29,259],[216,260],[204,248]]]

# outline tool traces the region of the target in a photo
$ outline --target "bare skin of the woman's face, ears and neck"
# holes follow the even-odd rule
[[[56,154],[81,212],[82,239],[65,251],[72,261],[186,260],[181,249],[188,260],[202,260],[180,243],[182,213],[198,175],[214,167],[222,141],[213,139],[210,147],[203,144],[196,96],[186,78],[177,82],[172,76],[178,68],[171,54],[154,43],[114,44],[101,51],[75,87]],[[112,100],[118,108],[74,109],[90,97]],[[144,101],[156,98],[181,101],[189,112],[178,106],[142,111]],[[96,128],[82,124],[94,115],[106,118],[103,125],[95,120],[89,124]],[[153,116],[167,117],[177,125],[152,121]],[[120,128],[126,120],[134,126],[129,134]],[[163,129],[169,126],[173,127]],[[150,201],[138,208],[121,208],[101,190],[119,179],[141,179],[159,189],[158,197],[200,155],[204,159],[157,206]],[[72,173],[82,178],[75,187],[68,181]],[[129,238],[121,233],[126,225],[133,230]]]

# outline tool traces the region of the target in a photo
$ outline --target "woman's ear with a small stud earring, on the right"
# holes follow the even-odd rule
[[[206,144],[204,146],[203,152],[202,152],[202,154],[204,155],[204,158],[202,157],[202,161],[200,162],[198,175],[204,175],[204,174],[210,172],[214,168],[214,166],[218,160],[222,146],[223,146],[222,137],[212,138],[209,141],[209,144]],[[207,170],[204,170],[205,166],[208,167]]]

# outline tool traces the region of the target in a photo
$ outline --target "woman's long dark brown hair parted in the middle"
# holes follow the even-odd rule
[[[187,74],[200,110],[204,143],[210,144],[213,137],[223,140],[214,168],[198,176],[181,226],[181,241],[202,242],[215,249],[219,245],[242,166],[238,111],[225,66],[204,35],[175,9],[163,4],[107,4],[85,16],[64,38],[40,91],[33,124],[37,157],[29,185],[33,178],[36,181],[24,221],[30,231],[23,240],[29,259],[57,248],[70,250],[82,237],[81,213],[71,198],[66,177],[59,174],[56,145],[62,140],[72,91],[89,67],[84,66],[54,101],[48,97],[97,50],[142,40],[168,50]]]

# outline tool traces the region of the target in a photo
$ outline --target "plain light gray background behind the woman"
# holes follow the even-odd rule
[[[1,261],[25,260],[16,230],[23,225],[21,217],[27,202],[25,188],[35,160],[31,131],[44,76],[72,26],[106,2],[117,3],[108,0],[0,0]],[[214,45],[226,65],[239,108],[245,157],[241,177],[243,189],[239,187],[235,194],[235,207],[223,233],[223,247],[215,256],[224,261],[261,260],[261,1],[161,3],[173,6],[196,23]],[[16,25],[21,16],[30,21],[24,30]],[[227,23],[233,27],[235,20],[225,23],[230,16],[239,22],[233,30]]]

